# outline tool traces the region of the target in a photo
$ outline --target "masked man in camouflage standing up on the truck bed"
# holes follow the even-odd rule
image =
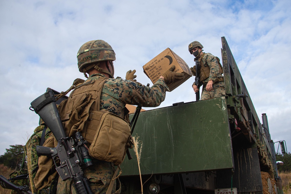
[[[194,61],[199,63],[199,82],[203,84],[201,100],[221,97],[225,95],[225,86],[223,81],[223,69],[219,59],[211,53],[204,53],[203,46],[198,41],[191,42],[188,46],[190,54],[195,56]],[[196,76],[196,67],[191,67],[191,72]],[[196,83],[192,84],[195,92],[199,92]]]

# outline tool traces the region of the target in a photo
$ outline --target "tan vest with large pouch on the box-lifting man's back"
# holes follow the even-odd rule
[[[100,111],[100,96],[105,77],[86,80],[63,101],[58,111],[69,137],[79,131],[87,140],[95,159],[120,165],[131,138],[129,122],[108,111]]]

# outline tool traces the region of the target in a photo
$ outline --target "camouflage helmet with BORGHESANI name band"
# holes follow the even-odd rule
[[[82,45],[77,54],[80,72],[91,63],[98,61],[115,60],[115,52],[104,40],[91,40]]]

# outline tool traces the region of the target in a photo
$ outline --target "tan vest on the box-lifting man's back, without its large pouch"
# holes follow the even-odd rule
[[[100,96],[104,82],[107,79],[106,77],[87,79],[72,91],[67,100],[61,102],[59,105],[58,111],[69,137],[72,137],[76,132],[80,131],[88,143],[92,143],[96,126],[87,125],[87,122],[94,118],[100,119],[104,113],[99,111]]]

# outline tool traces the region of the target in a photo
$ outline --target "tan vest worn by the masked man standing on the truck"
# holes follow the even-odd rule
[[[198,59],[199,60],[199,78],[200,78],[200,82],[204,84],[205,80],[207,78],[209,78],[210,76],[210,67],[209,65],[207,64],[207,61],[205,60],[205,65],[203,64],[203,57],[206,53],[203,53],[202,56]],[[222,65],[220,63],[220,60],[218,57],[216,57],[217,59],[217,62],[219,63],[219,71],[218,73],[219,74],[223,74],[223,69],[222,69]],[[214,81],[213,81],[213,84],[214,83],[217,83],[217,82],[220,82],[220,81],[223,81],[223,77],[222,78],[216,78]]]

